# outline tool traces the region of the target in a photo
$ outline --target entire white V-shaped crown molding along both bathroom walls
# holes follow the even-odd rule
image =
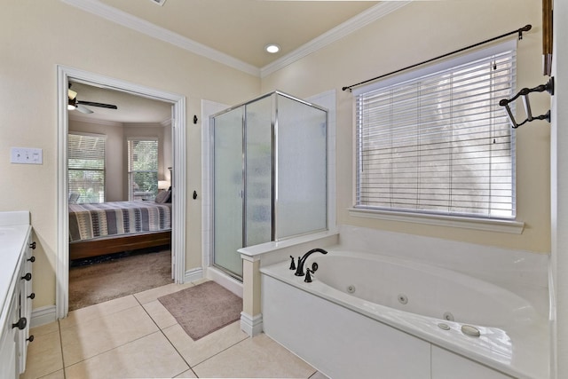
[[[103,4],[99,0],[61,0],[65,4],[75,6],[85,12],[90,12],[103,19],[115,22],[123,27],[136,30],[146,36],[151,36],[166,43],[171,43],[186,51],[191,51],[202,57],[215,60],[228,67],[233,67],[249,75],[254,75],[263,78],[264,76],[271,75],[272,73],[280,70],[280,68],[287,67],[288,65],[296,62],[299,59],[311,54],[314,51],[324,48],[330,43],[348,36],[359,28],[363,28],[386,16],[390,12],[397,11],[399,8],[410,4],[409,1],[385,1],[367,9],[365,12],[359,13],[357,16],[352,17],[350,20],[343,22],[343,24],[328,30],[321,36],[318,36],[312,41],[305,43],[280,59],[275,60],[269,65],[262,68],[255,67],[241,59],[233,58],[224,52],[217,51],[202,43],[193,41],[185,36],[178,35],[166,28],[158,27],[146,20],[139,19],[132,16],[130,13],[122,12],[110,5]]]

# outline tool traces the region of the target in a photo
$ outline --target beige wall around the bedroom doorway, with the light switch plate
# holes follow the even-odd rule
[[[31,211],[38,244],[34,308],[55,304],[58,64],[185,95],[187,120],[201,114],[201,99],[236,104],[260,92],[260,80],[254,76],[59,0],[20,0],[4,7],[0,12],[0,210]],[[187,180],[201,193],[201,126],[188,122],[186,128]],[[11,146],[42,148],[43,164],[9,163]],[[200,199],[188,201],[186,218],[187,268],[201,267]]]

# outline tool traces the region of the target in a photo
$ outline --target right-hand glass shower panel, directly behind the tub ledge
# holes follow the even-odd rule
[[[276,239],[327,229],[327,112],[278,94]]]

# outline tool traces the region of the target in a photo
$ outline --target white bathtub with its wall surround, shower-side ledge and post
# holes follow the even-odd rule
[[[351,225],[317,234],[239,250],[246,272],[241,328],[249,336],[263,330],[337,378],[358,375],[348,368],[360,370],[360,377],[550,378],[554,303],[547,254]],[[302,257],[314,248],[330,254],[307,260],[306,266],[318,262],[319,270],[312,283],[304,283],[304,277],[289,270],[289,256]],[[386,279],[371,287],[394,288],[391,297],[407,296],[408,306],[392,299],[392,304],[381,304],[383,300],[362,294],[367,289],[356,280],[335,282],[346,279],[350,270],[343,262],[333,271],[324,259],[341,255],[339,251],[400,263],[390,271],[367,263],[350,270],[354,278],[367,270],[367,276]],[[414,272],[409,274],[409,267]],[[353,283],[359,297],[347,293],[345,287]],[[411,284],[418,288],[404,287]],[[446,297],[454,301],[448,303]],[[421,301],[426,312],[411,309]],[[464,334],[466,324],[480,336]]]

